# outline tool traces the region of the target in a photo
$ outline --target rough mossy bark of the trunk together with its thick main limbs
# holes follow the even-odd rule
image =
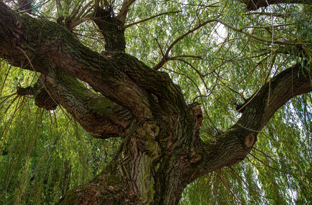
[[[123,37],[124,30],[109,27],[102,18],[105,22],[118,19],[96,15],[102,31],[111,29]],[[299,72],[301,67],[290,67],[250,98],[236,124],[203,142],[200,105],[186,105],[167,73],[126,54],[124,37],[115,41],[107,35],[106,51],[99,54],[64,27],[16,14],[2,1],[0,27],[0,57],[41,73],[35,85],[18,87],[19,95],[33,95],[35,103],[47,110],[62,106],[97,138],[122,139],[104,171],[67,192],[57,204],[176,205],[187,184],[240,162],[275,111],[293,96],[311,91],[310,79]]]

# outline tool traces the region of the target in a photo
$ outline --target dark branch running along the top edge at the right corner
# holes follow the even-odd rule
[[[246,4],[248,11],[255,11],[261,7],[267,7],[271,4],[280,3],[299,3],[299,4],[311,4],[311,0],[244,0],[243,3]]]

